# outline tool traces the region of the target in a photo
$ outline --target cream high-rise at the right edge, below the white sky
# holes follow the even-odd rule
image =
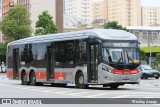
[[[157,26],[160,24],[160,7],[142,7],[142,26]]]

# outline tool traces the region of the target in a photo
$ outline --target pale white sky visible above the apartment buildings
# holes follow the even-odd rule
[[[100,0],[93,0],[100,1]],[[142,6],[160,6],[160,0],[141,0]]]

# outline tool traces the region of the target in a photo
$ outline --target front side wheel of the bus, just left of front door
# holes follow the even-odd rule
[[[84,76],[82,72],[79,72],[78,76],[76,77],[76,88],[80,89],[88,88],[88,85],[84,84]]]

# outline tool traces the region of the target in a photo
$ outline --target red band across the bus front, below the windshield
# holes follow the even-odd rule
[[[129,75],[129,74],[138,74],[138,69],[135,69],[135,70],[117,70],[117,69],[114,69],[113,70],[113,73],[114,74],[122,74],[122,75]]]

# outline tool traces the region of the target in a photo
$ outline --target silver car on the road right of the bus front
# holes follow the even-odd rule
[[[149,77],[159,79],[160,77],[160,72],[152,69],[149,65],[140,65],[139,70],[141,72],[141,79],[148,79]]]

